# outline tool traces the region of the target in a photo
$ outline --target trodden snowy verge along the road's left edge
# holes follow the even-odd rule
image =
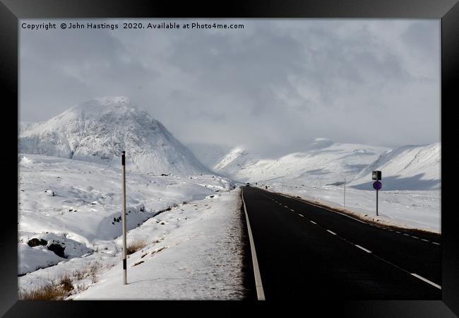
[[[118,262],[73,299],[244,298],[239,193],[237,189],[174,208],[131,230],[131,238],[157,237],[159,242],[130,255],[128,285],[122,285]]]

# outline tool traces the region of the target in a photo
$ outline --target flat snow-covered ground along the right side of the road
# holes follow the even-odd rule
[[[292,180],[268,184],[268,190],[281,192],[302,199],[316,201],[332,208],[344,208],[344,186],[309,187],[292,184]],[[403,228],[417,228],[441,233],[441,191],[379,191],[378,216],[376,216],[376,191],[346,187],[347,213],[381,224],[396,225]]]

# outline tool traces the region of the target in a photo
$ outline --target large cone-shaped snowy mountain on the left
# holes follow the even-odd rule
[[[131,105],[128,98],[97,98],[20,129],[19,153],[52,155],[143,173],[190,175],[208,173],[165,126]]]

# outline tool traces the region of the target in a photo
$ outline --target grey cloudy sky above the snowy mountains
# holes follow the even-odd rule
[[[185,144],[266,155],[307,141],[440,139],[440,20],[130,20],[244,29],[20,29],[20,120],[127,96]],[[88,20],[79,20],[87,23]]]

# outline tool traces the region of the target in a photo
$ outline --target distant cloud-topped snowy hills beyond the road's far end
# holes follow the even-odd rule
[[[242,148],[233,148],[214,170],[238,181],[263,182],[291,179],[323,186],[354,177],[387,148],[316,139],[306,151],[278,159],[258,159]]]

